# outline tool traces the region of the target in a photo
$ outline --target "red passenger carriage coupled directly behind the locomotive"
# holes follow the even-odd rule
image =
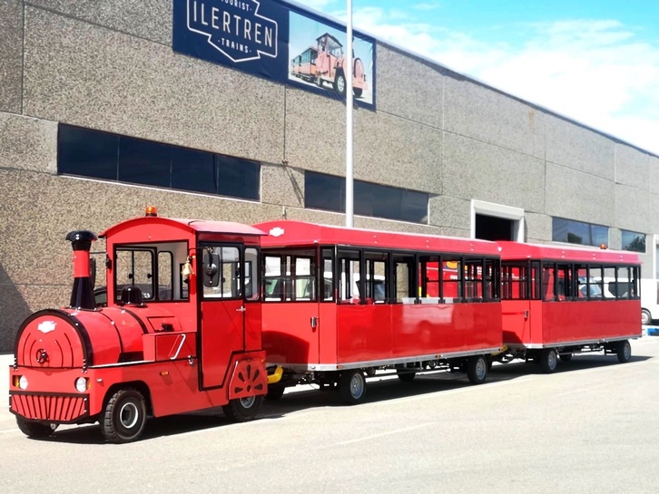
[[[483,383],[501,339],[493,242],[320,226],[257,225],[264,272],[263,347],[284,369],[270,386],[339,386],[359,402],[365,375],[401,380],[465,370]]]

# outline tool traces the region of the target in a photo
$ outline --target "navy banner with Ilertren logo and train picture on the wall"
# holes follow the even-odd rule
[[[174,52],[375,109],[375,40],[279,0],[174,0]]]

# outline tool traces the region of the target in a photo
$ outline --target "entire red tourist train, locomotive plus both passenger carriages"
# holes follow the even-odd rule
[[[222,407],[317,383],[357,403],[366,377],[448,370],[484,383],[494,360],[553,372],[584,351],[631,357],[641,335],[628,253],[336,228],[147,215],[108,228],[106,294],[75,231],[69,307],[25,320],[10,410],[26,435],[98,421],[138,439],[148,416]]]

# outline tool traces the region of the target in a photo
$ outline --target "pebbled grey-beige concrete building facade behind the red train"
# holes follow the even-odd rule
[[[425,222],[358,228],[474,237],[478,215],[551,242],[555,218],[646,236],[659,158],[377,41],[377,107],[354,111],[355,179],[428,194]],[[310,111],[311,110],[311,111]],[[305,173],[345,174],[345,104],[172,50],[172,0],[0,1],[0,352],[34,310],[66,305],[67,232],[163,216],[344,223],[305,208]],[[61,125],[260,163],[258,200],[58,172]],[[100,240],[94,250],[103,250]],[[103,282],[103,280],[100,280]]]

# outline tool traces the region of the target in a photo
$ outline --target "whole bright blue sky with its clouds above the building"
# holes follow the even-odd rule
[[[298,0],[345,21],[345,0]],[[355,29],[659,154],[659,1],[352,0]]]

